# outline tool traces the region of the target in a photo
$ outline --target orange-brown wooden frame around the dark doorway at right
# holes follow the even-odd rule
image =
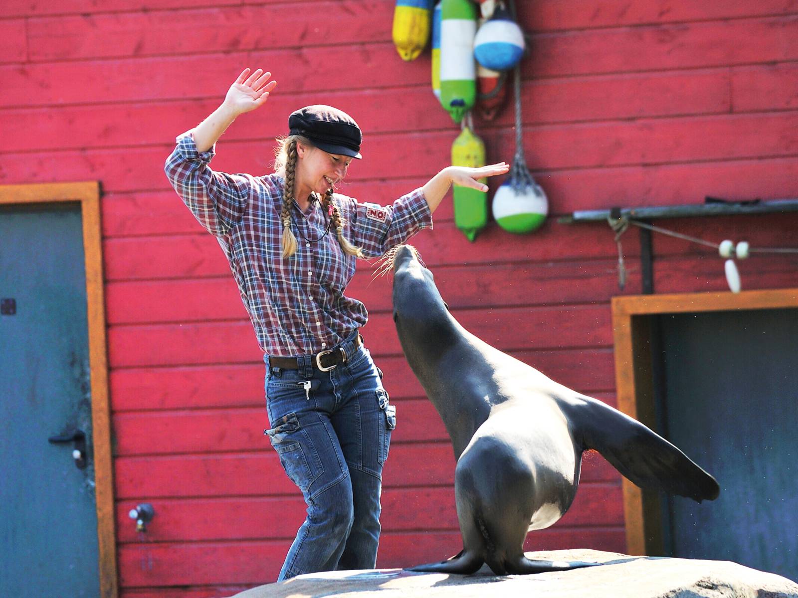
[[[615,389],[618,409],[655,428],[654,380],[650,351],[652,316],[749,309],[798,308],[798,289],[741,293],[684,293],[612,298]],[[662,554],[662,510],[657,492],[623,478],[626,551]]]

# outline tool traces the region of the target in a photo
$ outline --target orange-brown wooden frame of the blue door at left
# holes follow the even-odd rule
[[[109,405],[105,293],[102,273],[100,183],[0,185],[0,206],[79,203],[83,223],[86,301],[89,324],[89,370],[92,392],[92,444],[97,500],[97,548],[100,596],[117,598],[117,537],[114,521],[113,455]]]

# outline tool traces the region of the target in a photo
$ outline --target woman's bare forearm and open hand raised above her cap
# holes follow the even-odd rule
[[[263,73],[263,69],[252,74],[250,69],[243,69],[239,78],[227,90],[222,105],[193,129],[194,142],[199,153],[211,149],[236,116],[266,103],[269,92],[277,85],[277,81],[269,81],[269,77],[271,73]]]

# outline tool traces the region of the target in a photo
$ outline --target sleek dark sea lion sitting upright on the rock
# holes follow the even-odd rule
[[[595,449],[626,478],[697,502],[715,479],[666,439],[621,411],[556,383],[464,329],[413,246],[398,246],[393,321],[410,368],[444,421],[457,461],[463,550],[413,571],[497,575],[595,565],[531,561],[527,531],[558,521],[573,502],[582,454]]]

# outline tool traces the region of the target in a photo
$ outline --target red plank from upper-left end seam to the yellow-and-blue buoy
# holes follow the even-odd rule
[[[326,0],[32,18],[28,37],[38,62],[389,41],[392,22],[389,2]]]

